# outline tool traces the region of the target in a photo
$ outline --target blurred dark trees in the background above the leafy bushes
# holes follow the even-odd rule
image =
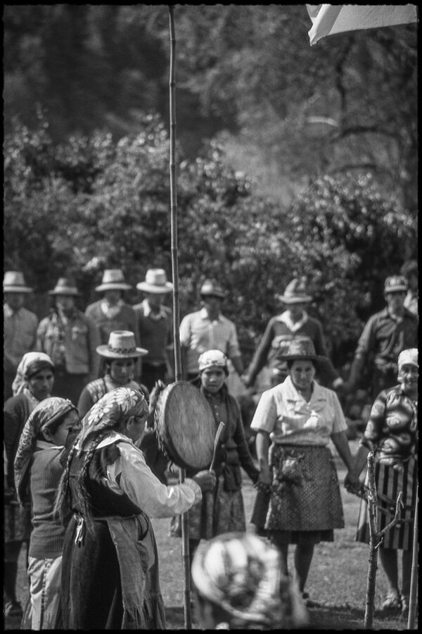
[[[311,48],[304,5],[182,4],[175,20],[178,137],[190,159],[220,133],[229,164],[274,199],[325,175],[371,173],[416,218],[417,25]],[[34,129],[37,103],[56,141],[138,134],[141,112],[167,122],[169,54],[165,5],[6,5],[5,130],[15,114]]]

